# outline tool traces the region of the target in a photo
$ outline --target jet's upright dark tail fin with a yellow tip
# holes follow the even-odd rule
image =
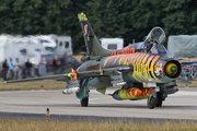
[[[78,19],[79,19],[79,22],[81,23],[82,32],[84,33],[84,41],[85,41],[88,55],[101,56],[101,57],[109,56],[111,51],[104,49],[101,46],[85,14],[79,13]]]

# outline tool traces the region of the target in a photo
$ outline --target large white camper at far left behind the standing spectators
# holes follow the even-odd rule
[[[27,58],[36,53],[44,53],[45,47],[34,43],[30,37],[23,36],[0,36],[0,61],[11,57],[13,60],[19,58],[20,62],[25,62]]]

